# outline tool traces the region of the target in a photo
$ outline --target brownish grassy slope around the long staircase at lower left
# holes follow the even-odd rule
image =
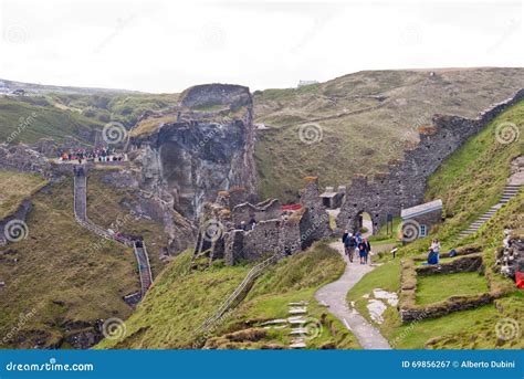
[[[125,191],[104,185],[96,172],[90,177],[90,218],[107,227],[125,220],[122,232],[145,235],[157,274],[158,251],[166,242],[163,227],[126,218],[125,204],[134,201]],[[136,260],[133,250],[76,224],[71,178],[33,196],[32,202],[28,238],[0,248],[0,281],[6,282],[0,289],[0,334],[21,325],[12,347],[67,348],[65,339],[74,331],[97,319],[125,319],[132,314],[122,297],[139,288]],[[29,313],[31,317],[21,323],[21,315]]]

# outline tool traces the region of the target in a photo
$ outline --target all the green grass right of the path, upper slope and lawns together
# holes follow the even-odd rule
[[[439,275],[423,278],[417,287],[419,304],[442,299],[449,295],[505,289],[510,293],[471,310],[453,313],[440,318],[402,324],[398,312],[389,307],[385,322],[379,327],[396,348],[523,348],[518,338],[502,340],[497,338],[495,326],[505,318],[512,318],[524,327],[524,296],[514,283],[501,276],[493,267],[494,250],[501,246],[505,228],[524,227],[524,192],[513,198],[480,231],[458,242],[457,233],[465,229],[471,220],[497,201],[501,190],[510,176],[510,162],[522,155],[522,137],[510,145],[500,144],[495,138],[496,125],[511,122],[524,131],[524,102],[500,115],[482,133],[471,138],[430,178],[428,199],[442,198],[446,208],[446,222],[436,236],[443,242],[443,251],[452,248],[478,244],[484,255],[484,273]],[[432,238],[432,236],[431,236]],[[398,256],[421,254],[427,251],[429,239],[418,240],[398,252]],[[348,293],[348,301],[364,316],[370,318],[364,295],[373,288],[391,292],[399,289],[399,259],[382,257],[384,264],[366,275]],[[452,276],[452,277],[451,277]],[[373,295],[371,295],[373,297]]]

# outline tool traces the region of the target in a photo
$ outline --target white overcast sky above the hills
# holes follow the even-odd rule
[[[252,91],[360,70],[523,66],[521,1],[0,0],[0,77]]]

